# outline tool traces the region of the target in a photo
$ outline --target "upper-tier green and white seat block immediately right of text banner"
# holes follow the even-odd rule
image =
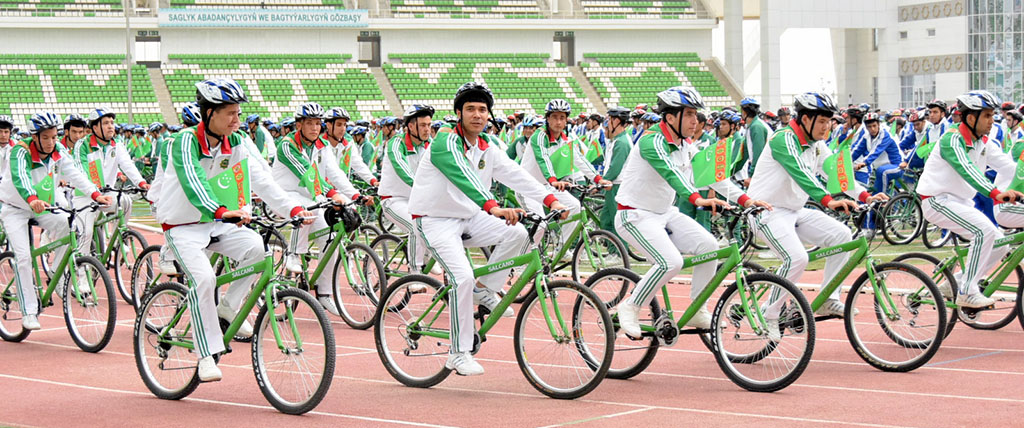
[[[432,18],[544,17],[537,0],[391,0],[391,14]]]

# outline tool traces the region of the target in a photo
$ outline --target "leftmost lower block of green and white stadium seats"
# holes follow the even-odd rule
[[[124,60],[124,55],[103,54],[0,55],[0,115],[20,124],[40,110],[63,117],[105,105],[123,115],[128,111]],[[132,67],[132,91],[136,123],[163,121],[144,66]]]

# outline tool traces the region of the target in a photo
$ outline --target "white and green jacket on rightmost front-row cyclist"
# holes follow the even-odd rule
[[[985,168],[1005,169],[1009,156],[998,144],[987,138],[974,139],[967,125],[942,134],[939,145],[925,161],[925,170],[918,183],[918,195],[937,197],[949,195],[961,200],[974,198],[975,192],[995,198],[999,189],[985,178]],[[1010,160],[1012,162],[1012,160]]]

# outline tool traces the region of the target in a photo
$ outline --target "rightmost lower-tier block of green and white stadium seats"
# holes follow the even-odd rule
[[[692,52],[584,53],[584,75],[607,105],[632,108],[654,102],[658,91],[692,85],[715,110],[733,105],[722,84]]]

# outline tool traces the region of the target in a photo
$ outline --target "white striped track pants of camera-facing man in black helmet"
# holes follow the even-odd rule
[[[499,291],[508,280],[509,270],[499,270],[474,281],[473,267],[466,249],[495,246],[487,263],[507,260],[526,253],[529,240],[522,225],[509,226],[505,220],[480,211],[471,218],[420,217],[416,219],[427,250],[441,264],[450,282],[452,311],[452,353],[473,349],[473,288],[476,281],[492,291]],[[463,234],[470,238],[463,241]],[[451,303],[455,302],[455,303]]]

